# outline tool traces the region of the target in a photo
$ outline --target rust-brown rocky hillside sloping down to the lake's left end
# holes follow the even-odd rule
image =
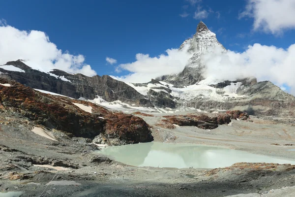
[[[103,134],[109,145],[153,140],[148,124],[137,116],[113,113],[84,100],[44,94],[0,78],[0,112],[56,129],[69,137],[93,139]]]

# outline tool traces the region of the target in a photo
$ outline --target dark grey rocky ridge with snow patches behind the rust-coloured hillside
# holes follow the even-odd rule
[[[135,106],[153,106],[148,99],[132,87],[108,75],[88,77],[57,69],[45,73],[32,69],[21,60],[8,62],[5,66],[0,66],[1,77],[13,79],[34,89],[74,99],[95,99],[99,96],[106,101],[121,100],[128,104],[135,104]],[[14,69],[7,68],[7,66],[20,68],[21,71],[13,71]]]

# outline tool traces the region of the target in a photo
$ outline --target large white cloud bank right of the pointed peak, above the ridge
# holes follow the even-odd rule
[[[206,77],[236,80],[254,76],[295,89],[295,44],[288,49],[254,44],[243,53],[215,51],[203,56],[202,61],[207,66]]]

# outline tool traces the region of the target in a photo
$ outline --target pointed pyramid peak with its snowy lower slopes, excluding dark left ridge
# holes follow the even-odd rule
[[[255,78],[220,81],[203,76],[206,65],[201,61],[202,56],[216,50],[223,53],[226,49],[202,21],[193,37],[185,40],[179,49],[186,45],[193,53],[189,63],[180,73],[158,77],[147,83],[148,91],[156,88],[161,92],[161,98],[147,92],[149,99],[163,100],[163,95],[166,95],[166,100],[174,102],[174,106],[182,110],[187,107],[207,112],[239,109],[251,115],[294,119],[295,97],[269,81],[257,82]],[[143,85],[133,85],[139,92],[143,91]],[[167,102],[163,106],[173,108]]]

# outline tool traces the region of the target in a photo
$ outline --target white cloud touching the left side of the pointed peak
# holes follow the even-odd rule
[[[123,69],[131,73],[115,78],[125,82],[145,83],[161,75],[181,72],[189,58],[192,57],[192,54],[187,52],[188,47],[186,46],[182,50],[168,49],[166,50],[167,55],[161,54],[158,57],[136,54],[135,62],[121,64],[116,69],[116,71]]]

